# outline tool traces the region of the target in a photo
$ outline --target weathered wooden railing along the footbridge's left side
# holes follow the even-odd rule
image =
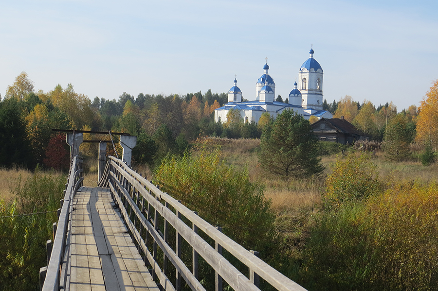
[[[61,208],[58,209],[58,222],[54,223],[54,242],[47,241],[48,266],[40,269],[40,285],[43,291],[54,291],[65,287],[66,268],[68,266],[68,249],[70,239],[71,207],[74,194],[82,186],[82,159],[73,157],[69,177],[64,190],[64,199],[61,200]]]

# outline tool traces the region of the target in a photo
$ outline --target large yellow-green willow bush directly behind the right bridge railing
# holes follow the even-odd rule
[[[219,150],[167,157],[156,172],[164,191],[182,201],[246,248],[260,249],[273,231],[271,202],[263,187],[250,183],[247,171],[225,164]]]

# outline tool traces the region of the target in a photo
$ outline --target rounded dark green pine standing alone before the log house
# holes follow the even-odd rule
[[[263,131],[258,155],[261,166],[283,177],[305,177],[324,170],[310,122],[285,110]]]

